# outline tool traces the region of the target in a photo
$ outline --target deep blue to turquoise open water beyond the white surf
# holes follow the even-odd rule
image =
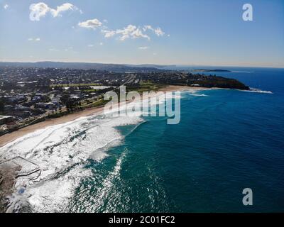
[[[284,211],[284,70],[217,73],[273,94],[182,92],[181,121],[145,118],[119,128],[123,143],[87,160],[69,211]],[[241,72],[240,72],[241,71]],[[253,206],[242,190],[253,190]]]

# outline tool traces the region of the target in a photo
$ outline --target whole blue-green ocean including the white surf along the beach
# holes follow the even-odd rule
[[[284,70],[226,69],[232,72],[214,74],[256,90],[182,92],[177,125],[166,117],[90,116],[4,146],[0,157],[20,155],[42,170],[40,179],[18,180],[11,207],[283,212]],[[245,188],[253,191],[252,206],[242,203]]]

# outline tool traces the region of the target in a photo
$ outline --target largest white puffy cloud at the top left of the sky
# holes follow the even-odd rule
[[[57,6],[56,9],[50,8],[44,2],[39,2],[38,4],[31,4],[30,6],[30,19],[31,21],[40,21],[40,18],[45,16],[47,13],[50,13],[53,17],[62,16],[62,12],[64,11],[82,11],[70,3],[62,4],[61,6]]]

